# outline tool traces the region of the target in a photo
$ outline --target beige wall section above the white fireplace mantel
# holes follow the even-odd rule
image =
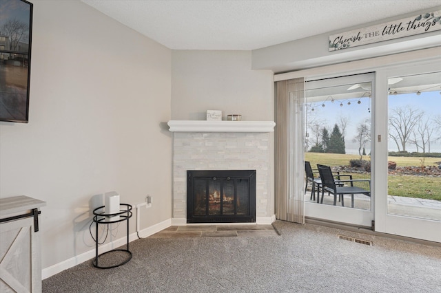
[[[249,51],[172,51],[172,120],[205,120],[207,110],[274,121],[273,72],[252,70]]]

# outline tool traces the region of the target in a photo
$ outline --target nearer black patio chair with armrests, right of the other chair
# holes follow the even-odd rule
[[[323,196],[325,195],[325,191],[327,191],[327,193],[331,193],[332,195],[334,195],[334,206],[337,203],[337,195],[338,195],[338,199],[341,199],[342,202],[342,206],[345,206],[345,201],[344,201],[344,195],[350,194],[351,195],[351,207],[353,208],[353,195],[354,194],[362,194],[362,195],[367,195],[367,196],[371,196],[371,191],[367,191],[366,189],[363,188],[359,188],[356,186],[353,186],[353,182],[370,182],[371,180],[335,180],[334,176],[332,175],[332,171],[331,171],[331,167],[329,166],[324,166],[324,165],[317,165],[318,167],[318,173],[320,173],[320,178],[322,180],[322,199],[320,201],[320,203],[323,203]],[[344,176],[344,175],[340,175],[340,176]],[[351,175],[349,175],[351,176]],[[351,186],[342,186],[342,184],[344,184],[345,182],[349,182],[351,184]]]

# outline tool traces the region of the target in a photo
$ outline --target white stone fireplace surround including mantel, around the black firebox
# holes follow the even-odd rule
[[[176,121],[173,132],[172,225],[187,225],[187,170],[256,170],[256,224],[271,224],[272,121]]]

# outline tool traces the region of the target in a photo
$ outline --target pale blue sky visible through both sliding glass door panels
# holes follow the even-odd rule
[[[420,96],[416,94],[399,94],[396,96],[389,96],[389,110],[396,107],[406,107],[409,105],[411,109],[418,109],[424,111],[424,118],[434,118],[435,116],[441,116],[441,89],[439,91],[429,91],[422,92]],[[370,109],[370,98],[361,98],[360,104],[358,104],[359,99],[352,100],[335,100],[331,102],[330,100],[325,102],[315,102],[309,104],[307,113],[310,114],[309,120],[318,119],[322,122],[322,125],[327,127],[329,134],[334,128],[334,124],[338,124],[340,117],[345,117],[348,120],[346,135],[345,135],[345,146],[347,153],[358,153],[358,143],[352,142],[353,138],[357,135],[357,126],[360,122],[369,119],[371,113]],[[351,105],[347,105],[347,102],[351,102]],[[343,104],[340,106],[340,102]],[[321,105],[325,104],[325,107]],[[311,111],[311,106],[314,107],[314,111]],[[435,127],[435,124],[431,124]],[[340,129],[341,131],[341,129]],[[435,134],[435,132],[438,133]],[[309,139],[315,140],[314,133],[309,131]],[[435,128],[433,131],[433,138],[441,137],[441,129]],[[314,144],[314,143],[313,143]],[[396,143],[389,140],[389,151],[398,151]],[[401,147],[401,146],[400,146]],[[407,151],[416,151],[415,144],[410,144],[408,142]],[[366,145],[366,152],[369,153],[370,146],[369,143]],[[441,140],[437,142],[431,141],[431,152],[441,153]]]

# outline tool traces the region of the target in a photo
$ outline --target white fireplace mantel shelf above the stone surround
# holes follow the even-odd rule
[[[170,120],[171,132],[274,132],[273,121]]]

